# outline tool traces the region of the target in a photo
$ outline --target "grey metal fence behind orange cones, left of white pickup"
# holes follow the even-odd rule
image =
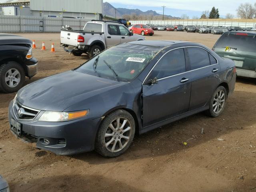
[[[82,30],[86,22],[82,18],[0,16],[0,32],[60,32],[65,25]]]

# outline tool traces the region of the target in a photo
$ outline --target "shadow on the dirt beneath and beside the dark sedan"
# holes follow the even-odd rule
[[[248,99],[244,100],[243,98]],[[254,106],[256,106],[256,101],[254,98],[256,98],[255,93],[236,91],[228,99],[221,116],[211,118],[202,112],[145,134],[136,135],[130,148],[116,158],[104,158],[96,152],[76,154],[71,157],[90,164],[107,164],[171,155],[209,140],[217,140],[224,134],[255,124]],[[238,116],[243,116],[240,122],[238,122]],[[186,146],[184,142],[187,142]]]

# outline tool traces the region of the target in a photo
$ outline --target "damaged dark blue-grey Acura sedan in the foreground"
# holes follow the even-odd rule
[[[234,62],[201,44],[122,43],[20,89],[8,109],[10,130],[59,155],[114,157],[135,132],[202,111],[219,116],[235,81]]]

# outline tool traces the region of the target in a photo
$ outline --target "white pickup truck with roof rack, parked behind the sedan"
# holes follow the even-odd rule
[[[145,40],[145,37],[133,34],[123,24],[115,21],[92,20],[85,24],[82,31],[66,27],[60,33],[60,44],[66,52],[74,56],[86,53],[89,58],[113,45],[140,40]]]

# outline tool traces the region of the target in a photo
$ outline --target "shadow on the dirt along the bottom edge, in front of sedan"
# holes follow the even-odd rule
[[[118,177],[106,178],[96,174],[64,174],[60,176],[26,179],[20,182],[9,182],[9,186],[11,191],[26,192],[144,192],[135,186],[126,184],[122,180],[118,180]]]

